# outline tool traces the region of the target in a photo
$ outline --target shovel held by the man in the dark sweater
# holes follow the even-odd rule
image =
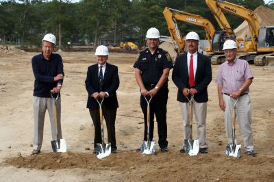
[[[59,98],[59,93],[55,97],[55,96],[53,96],[53,94],[51,92],[51,98],[54,99],[54,103],[55,103],[55,128],[56,128],[56,133],[58,135],[59,121],[57,118],[58,108],[57,108],[56,101]],[[51,147],[52,147],[53,152],[55,152],[55,153],[65,153],[66,152],[66,141],[64,139],[60,139],[60,138],[58,138],[57,140],[52,140]]]

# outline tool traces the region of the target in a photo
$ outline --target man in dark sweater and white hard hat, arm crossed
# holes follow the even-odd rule
[[[32,70],[34,72],[34,150],[32,155],[40,153],[43,140],[44,122],[46,110],[49,112],[51,121],[51,135],[53,140],[62,138],[61,118],[61,98],[60,90],[64,79],[63,61],[59,54],[53,53],[56,38],[53,34],[46,34],[42,39],[42,53],[32,57]],[[51,98],[51,93],[59,94],[56,100],[58,107],[58,125],[55,127],[55,99]]]

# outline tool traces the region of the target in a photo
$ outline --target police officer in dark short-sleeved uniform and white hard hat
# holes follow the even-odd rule
[[[149,140],[153,140],[154,114],[158,123],[158,144],[162,153],[169,148],[166,126],[166,104],[169,89],[167,86],[169,70],[173,68],[171,56],[167,51],[160,49],[160,33],[156,28],[147,31],[148,48],[141,51],[138,60],[134,64],[135,76],[140,88],[140,106],[145,119],[144,140],[147,141],[147,102],[145,96],[153,96],[150,103],[150,127]]]

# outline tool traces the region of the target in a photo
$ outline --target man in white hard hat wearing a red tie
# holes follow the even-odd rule
[[[179,55],[175,60],[172,79],[178,88],[177,101],[181,107],[184,139],[190,139],[190,124],[188,115],[188,97],[194,95],[192,101],[193,112],[197,123],[197,135],[199,140],[199,152],[208,153],[206,144],[206,114],[208,103],[208,85],[212,80],[210,59],[199,53],[199,36],[196,32],[190,31],[186,35],[188,51]],[[180,150],[186,152],[185,145]]]

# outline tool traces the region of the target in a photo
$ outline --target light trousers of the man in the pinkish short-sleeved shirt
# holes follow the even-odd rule
[[[232,143],[232,110],[236,99],[231,96],[223,94],[223,101],[225,101],[225,131],[227,132],[228,143]],[[249,94],[240,96],[238,103],[236,103],[236,120],[240,127],[240,133],[244,142],[246,151],[253,151],[253,138],[251,128],[251,101]]]

